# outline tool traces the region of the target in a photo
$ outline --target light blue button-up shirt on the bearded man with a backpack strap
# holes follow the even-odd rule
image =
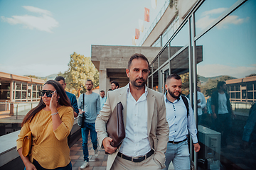
[[[167,93],[167,92],[166,92]],[[169,123],[169,141],[180,142],[186,139],[188,131],[192,137],[193,143],[197,143],[196,136],[196,121],[193,114],[191,103],[188,100],[189,115],[187,117],[187,110],[185,103],[181,96],[172,103],[164,95],[166,105],[166,119]],[[188,99],[188,98],[187,98]]]

